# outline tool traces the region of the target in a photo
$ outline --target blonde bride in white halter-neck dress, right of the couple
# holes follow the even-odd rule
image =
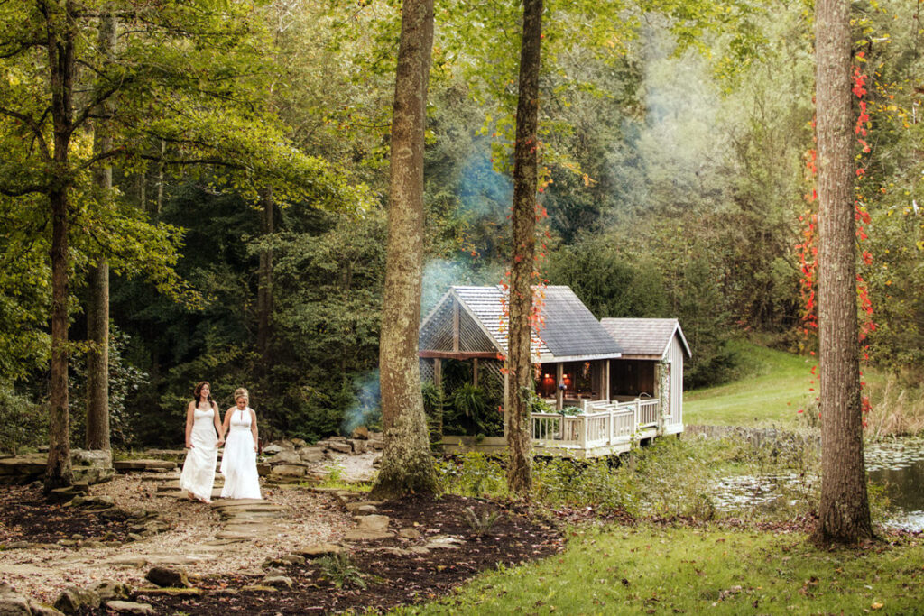
[[[257,414],[248,406],[249,393],[241,387],[234,393],[235,406],[225,413],[222,428],[227,434],[222,454],[225,476],[223,499],[261,499],[257,475]]]

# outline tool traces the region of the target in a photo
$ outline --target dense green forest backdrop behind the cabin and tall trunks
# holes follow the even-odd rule
[[[203,2],[203,13],[225,20],[227,46],[205,35],[197,42],[190,29],[186,44],[207,52],[200,61],[224,79],[210,75],[196,89],[243,111],[204,121],[196,111],[207,104],[176,95],[169,81],[160,91],[127,89],[120,104],[136,114],[125,124],[135,153],[114,163],[117,216],[80,180],[74,203],[76,443],[86,274],[100,253],[116,260],[115,444],[179,442],[199,380],[213,383],[222,405],[248,386],[271,434],[316,440],[347,418],[374,416],[397,4],[291,0],[228,14]],[[921,5],[854,8],[855,59],[867,76],[857,115],[860,100],[869,115],[857,133],[867,144],[857,141],[866,236],[857,253],[864,314],[875,323],[869,355],[913,382],[924,353]],[[678,318],[694,354],[687,387],[734,374],[733,337],[811,351],[803,332],[813,246],[810,3],[558,2],[545,22],[549,284],[570,285],[598,318]],[[437,6],[425,313],[448,284],[505,276],[518,23],[516,3]],[[180,62],[175,55],[160,61]],[[23,89],[43,90],[28,63],[2,57],[0,68],[0,106]],[[178,101],[178,111],[144,118],[145,97]],[[30,171],[18,130],[9,116],[0,121],[7,178]],[[190,142],[209,143],[211,161],[193,163]],[[0,431],[28,444],[43,440],[47,416],[50,224],[40,199],[4,192]],[[101,240],[100,230],[112,237]]]

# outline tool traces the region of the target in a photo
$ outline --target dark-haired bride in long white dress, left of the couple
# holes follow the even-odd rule
[[[211,386],[204,380],[193,390],[195,399],[186,409],[186,447],[189,451],[179,477],[179,489],[185,489],[190,499],[202,502],[212,502],[218,445],[224,441],[225,434],[218,423],[218,405],[213,403],[211,393]]]

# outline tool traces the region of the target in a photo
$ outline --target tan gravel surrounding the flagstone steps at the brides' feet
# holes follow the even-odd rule
[[[158,513],[171,525],[170,530],[140,541],[101,548],[74,549],[46,544],[3,550],[0,581],[14,586],[18,592],[51,603],[67,586],[89,586],[103,579],[147,586],[144,574],[156,562],[179,561],[193,578],[256,574],[267,557],[290,553],[293,546],[337,541],[354,525],[349,514],[330,496],[299,488],[264,486],[263,498],[282,507],[278,517],[248,540],[223,544],[215,541],[222,523],[208,505],[180,501],[176,496],[158,496],[158,485],[175,484],[176,477],[178,474],[119,475],[109,483],[91,488],[93,496],[111,496],[116,506],[124,510],[143,508]],[[0,522],[0,529],[5,522]]]

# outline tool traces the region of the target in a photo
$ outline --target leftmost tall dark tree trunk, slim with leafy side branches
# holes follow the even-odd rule
[[[64,11],[61,9],[64,8]],[[68,178],[68,154],[73,125],[74,5],[45,5],[48,67],[52,87],[52,120],[55,127],[54,164],[58,177]],[[63,14],[55,14],[58,12]],[[56,30],[60,28],[60,30]],[[69,486],[70,417],[67,409],[67,214],[70,185],[67,179],[48,193],[52,214],[52,363],[50,415],[48,418],[48,465],[45,491]]]

